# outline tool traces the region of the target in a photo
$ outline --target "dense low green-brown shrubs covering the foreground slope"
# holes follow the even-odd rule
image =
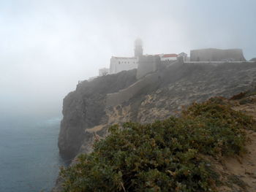
[[[179,117],[109,128],[94,152],[61,169],[64,191],[216,191],[221,184],[206,155],[245,153],[254,120],[222,98],[192,104]]]

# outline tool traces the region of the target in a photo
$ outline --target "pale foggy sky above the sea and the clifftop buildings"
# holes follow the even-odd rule
[[[242,48],[256,57],[256,1],[0,0],[0,115],[55,117],[110,57]]]

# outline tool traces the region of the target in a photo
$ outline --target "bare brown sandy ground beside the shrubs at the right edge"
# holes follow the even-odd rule
[[[256,96],[246,97],[249,103],[242,103],[241,100],[229,101],[233,110],[245,112],[252,115],[256,120]],[[222,183],[226,186],[218,188],[223,192],[256,192],[256,132],[246,131],[248,142],[247,153],[241,156],[229,158],[209,159],[217,172],[220,174]]]

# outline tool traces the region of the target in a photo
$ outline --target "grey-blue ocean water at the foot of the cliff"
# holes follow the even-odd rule
[[[0,119],[0,191],[50,191],[64,162],[57,147],[61,118]]]

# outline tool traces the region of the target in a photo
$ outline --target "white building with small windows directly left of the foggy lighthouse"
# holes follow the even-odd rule
[[[110,58],[109,74],[137,69],[138,61],[138,57],[112,57]]]

